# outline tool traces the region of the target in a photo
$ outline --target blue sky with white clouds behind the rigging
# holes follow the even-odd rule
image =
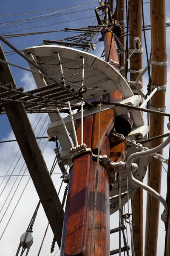
[[[144,3],[148,2],[147,0],[144,0]],[[1,5],[1,9],[0,9],[0,16],[2,15],[10,15],[10,14],[15,14],[15,13],[23,13],[23,12],[32,12],[32,11],[39,11],[39,10],[43,10],[43,9],[52,9],[52,8],[59,8],[59,7],[65,7],[65,6],[74,6],[74,5],[81,5],[81,4],[85,4],[85,3],[91,3],[90,0],[88,1],[83,1],[83,0],[74,0],[74,1],[54,1],[54,0],[50,0],[50,1],[33,1],[30,0],[28,3],[17,0],[17,1],[3,1],[3,5]],[[167,21],[170,22],[170,7],[168,5],[168,0],[166,1],[167,3],[167,8],[166,8],[166,16],[167,16]],[[48,31],[48,30],[60,30],[60,29],[64,29],[65,27],[83,27],[83,26],[88,26],[88,25],[92,25],[95,18],[92,17],[94,16],[94,10],[88,10],[88,11],[84,11],[84,12],[79,12],[79,13],[74,13],[71,15],[64,15],[64,16],[55,16],[53,18],[47,19],[47,20],[41,20],[41,21],[36,21],[34,23],[27,23],[27,24],[23,24],[20,25],[20,23],[24,23],[24,22],[30,22],[30,21],[34,21],[34,20],[27,20],[27,21],[22,21],[20,23],[13,23],[13,24],[7,24],[5,25],[6,28],[3,28],[3,26],[1,26],[1,23],[8,23],[14,20],[22,20],[22,19],[28,19],[28,18],[32,18],[32,17],[36,17],[39,15],[46,15],[48,13],[53,13],[53,12],[58,12],[56,14],[51,14],[51,15],[59,15],[59,14],[63,14],[66,12],[77,12],[77,11],[83,11],[85,9],[90,9],[90,8],[94,8],[95,6],[98,6],[98,3],[92,3],[86,6],[82,6],[82,7],[77,7],[75,9],[70,9],[67,11],[63,11],[63,12],[58,12],[59,10],[54,9],[54,10],[50,10],[47,12],[38,12],[38,13],[34,13],[34,14],[25,14],[25,15],[16,15],[16,16],[8,16],[8,17],[0,17],[0,34],[3,35],[3,33],[7,33],[7,32],[11,32],[12,34],[15,33],[25,33],[25,32],[40,32],[40,31]],[[62,10],[62,9],[60,9]],[[150,24],[150,5],[149,3],[144,4],[144,16],[145,16],[145,25],[149,25]],[[87,18],[87,17],[91,17],[91,18]],[[43,17],[45,18],[45,16]],[[79,19],[79,18],[85,18],[83,20],[78,20],[78,21],[74,21],[74,22],[69,22],[69,20],[75,20],[75,19]],[[46,27],[41,27],[41,28],[34,28],[34,29],[28,29],[31,27],[36,27],[36,26],[45,26],[45,25],[50,25],[52,23],[58,23],[58,22],[65,22],[65,23],[60,23],[60,24],[56,24],[56,25],[51,25],[51,26],[46,26]],[[96,24],[96,23],[95,23]],[[8,27],[7,26],[13,26],[13,25],[18,25],[18,26],[14,26],[14,27]],[[2,29],[1,29],[2,28]],[[14,32],[17,30],[21,30],[21,29],[28,29],[28,30],[23,30],[20,32]],[[7,35],[7,34],[6,34]],[[42,35],[32,35],[32,36],[25,36],[25,37],[18,37],[18,38],[9,38],[8,41],[10,41],[12,44],[14,44],[14,46],[16,46],[18,49],[24,49],[26,47],[31,47],[31,46],[36,46],[39,44],[42,44],[43,39],[49,39],[49,40],[58,40],[58,39],[62,39],[68,36],[73,35],[72,33],[67,33],[67,32],[55,32],[55,33],[48,33],[48,34],[42,34]],[[147,35],[147,45],[148,45],[148,52],[150,52],[150,31],[146,32]],[[168,55],[168,60],[170,61],[169,58],[169,52],[170,52],[170,28],[167,28],[167,55]],[[3,50],[4,51],[11,51],[11,49],[9,47],[7,47],[6,45],[4,45],[2,43],[3,46]],[[144,41],[143,41],[143,47],[144,47]],[[103,49],[102,43],[97,44],[96,47],[96,51],[94,52],[94,54],[96,55],[100,55],[101,50]],[[7,53],[6,55],[9,55],[10,53]],[[13,62],[15,64],[19,64],[21,66],[24,67],[28,67],[27,62],[21,58],[20,56],[18,56],[17,54],[14,55],[9,55],[7,56],[7,60],[10,62]],[[143,61],[143,66],[146,66],[146,57],[145,57],[145,47],[144,47],[144,61]],[[14,79],[16,81],[17,87],[21,87],[24,86],[25,89],[30,89],[33,87],[36,87],[35,83],[34,83],[34,79],[32,77],[31,74],[26,73],[23,70],[19,70],[17,68],[11,67],[11,71],[12,74],[14,76]],[[169,68],[168,68],[168,73],[167,73],[168,79],[167,81],[169,81],[170,79],[170,72],[169,72]],[[169,84],[170,86],[170,84]],[[147,87],[147,76],[144,77],[144,87],[146,90]],[[168,93],[170,93],[170,89],[167,90],[167,95]],[[170,107],[168,104],[168,97],[166,99],[166,105],[167,105],[167,112],[170,113]],[[29,115],[29,118],[31,120],[31,123],[34,122],[34,119],[36,118],[37,114],[32,114]],[[37,125],[37,128],[35,130],[36,135],[39,133],[40,128],[42,126],[42,124],[44,123],[46,118],[46,115],[44,115],[42,117],[42,119],[40,120],[39,124]],[[36,122],[33,125],[33,128],[35,128],[37,121],[40,119],[40,115],[37,117]],[[1,121],[1,129],[0,129],[0,140],[6,140],[6,139],[13,139],[14,135],[11,132],[11,126],[8,122],[8,119],[5,115],[0,116],[0,121]],[[166,129],[166,124],[167,124],[167,118],[165,118],[165,132],[167,132]],[[40,135],[42,135],[45,131],[45,127],[48,124],[48,119],[45,121],[45,125],[43,127],[43,131],[41,131]],[[45,133],[46,135],[46,133]],[[43,149],[45,145],[45,141],[41,141],[40,142],[40,147],[41,149]],[[47,148],[44,151],[44,157],[45,160],[47,162],[48,165],[48,169],[50,169],[51,164],[53,162],[53,158],[54,158],[54,152],[53,152],[53,148],[54,145],[49,143],[47,144]],[[18,151],[18,146],[17,143],[9,143],[6,145],[0,145],[0,154],[1,154],[1,163],[0,163],[0,172],[3,174],[6,174],[15,154]],[[8,154],[7,154],[8,152]],[[164,155],[167,157],[168,155],[168,150],[164,151]],[[19,158],[19,157],[18,157]],[[17,158],[17,159],[18,159]],[[16,161],[17,161],[16,159]],[[14,162],[14,164],[16,164],[16,161]],[[21,158],[20,162],[18,163],[14,174],[18,174],[21,167],[23,166],[23,159]],[[12,167],[14,167],[14,164]],[[25,166],[24,166],[25,168]],[[22,172],[23,173],[23,170]],[[12,168],[11,168],[12,169]],[[11,169],[9,174],[11,173]],[[56,170],[56,172],[58,172],[58,169]],[[26,172],[26,174],[28,174],[28,172]],[[57,190],[59,188],[59,175],[54,175],[55,177],[53,177],[54,179],[54,183],[57,187]],[[8,218],[10,217],[11,212],[14,209],[14,206],[17,202],[17,199],[19,198],[19,195],[21,194],[21,192],[23,191],[23,188],[27,182],[28,177],[24,177],[23,180],[20,183],[19,188],[17,189],[17,193],[15,195],[15,197],[13,198],[13,200],[11,201],[10,207],[6,213],[6,219],[4,219],[1,223],[0,223],[0,230],[3,230]],[[6,189],[4,190],[1,198],[0,198],[0,204],[3,205],[4,200],[6,198],[6,196],[8,195],[8,192],[10,191],[12,184],[14,183],[14,178],[10,179],[10,182],[8,183],[8,186],[6,187]],[[163,177],[162,180],[164,182],[166,182],[166,176],[164,175],[164,170],[163,170]],[[17,181],[18,182],[18,181]],[[16,184],[17,184],[16,182]],[[145,183],[147,183],[147,180],[145,180]],[[4,185],[5,186],[5,185]],[[2,189],[2,188],[0,188]],[[14,189],[12,190],[12,192],[14,191]],[[1,192],[1,190],[0,190]],[[166,189],[162,188],[162,193],[165,196],[165,192]],[[63,190],[61,192],[61,198],[63,195]],[[11,198],[11,195],[9,197],[9,200]],[[146,195],[145,195],[146,198]],[[8,200],[8,201],[9,201]],[[6,229],[6,232],[4,233],[4,239],[2,239],[0,241],[0,248],[2,248],[2,252],[3,254],[1,254],[0,252],[0,256],[11,256],[16,252],[16,248],[18,246],[19,243],[19,239],[20,236],[23,232],[25,232],[25,227],[27,227],[28,222],[31,218],[31,215],[37,205],[37,201],[38,201],[38,197],[37,194],[34,190],[34,186],[33,184],[30,182],[29,186],[27,186],[26,191],[23,194],[23,197],[21,198],[20,204],[18,205],[16,211],[14,212],[14,215],[11,219],[11,221],[9,222],[8,228]],[[6,204],[7,205],[7,204]],[[6,206],[5,205],[5,206]],[[6,206],[7,207],[7,206]],[[162,210],[162,208],[161,208]],[[5,211],[5,210],[4,210]],[[161,211],[160,211],[161,213]],[[3,212],[1,213],[1,215],[3,214]],[[1,216],[0,215],[0,216]],[[116,217],[115,217],[116,218]],[[42,225],[43,223],[43,225]],[[37,250],[39,249],[39,245],[41,243],[41,239],[43,236],[43,233],[45,231],[45,225],[47,224],[47,220],[46,217],[43,213],[42,208],[40,209],[40,213],[38,215],[38,220],[35,223],[35,231],[34,231],[34,237],[35,239],[35,243],[34,245],[34,250],[35,252],[37,252]],[[161,229],[162,229],[162,223],[161,225]],[[118,226],[118,222],[116,222],[116,226]],[[113,228],[112,224],[111,224],[111,228]],[[12,233],[11,233],[12,231]],[[0,233],[1,235],[1,233]],[[15,237],[14,237],[15,236]],[[46,255],[50,255],[49,253],[49,247],[51,244],[51,239],[52,239],[52,233],[51,231],[49,231],[48,235],[47,235],[47,240],[45,240],[45,245],[43,247],[43,252],[42,252],[42,256],[46,256]],[[11,249],[7,246],[7,239],[11,239],[12,245],[11,245]],[[161,247],[161,243],[164,243],[164,227],[163,227],[163,231],[160,233],[159,236],[159,248],[158,248],[158,252],[162,252],[162,247]],[[38,244],[38,246],[36,247],[36,244]],[[117,244],[118,245],[118,244]],[[118,247],[118,246],[116,246]],[[0,250],[1,251],[1,250]],[[13,253],[13,254],[11,254]],[[36,254],[35,254],[36,255]],[[57,254],[59,255],[59,253]],[[161,254],[158,254],[161,255]],[[53,256],[53,255],[52,255]]]

